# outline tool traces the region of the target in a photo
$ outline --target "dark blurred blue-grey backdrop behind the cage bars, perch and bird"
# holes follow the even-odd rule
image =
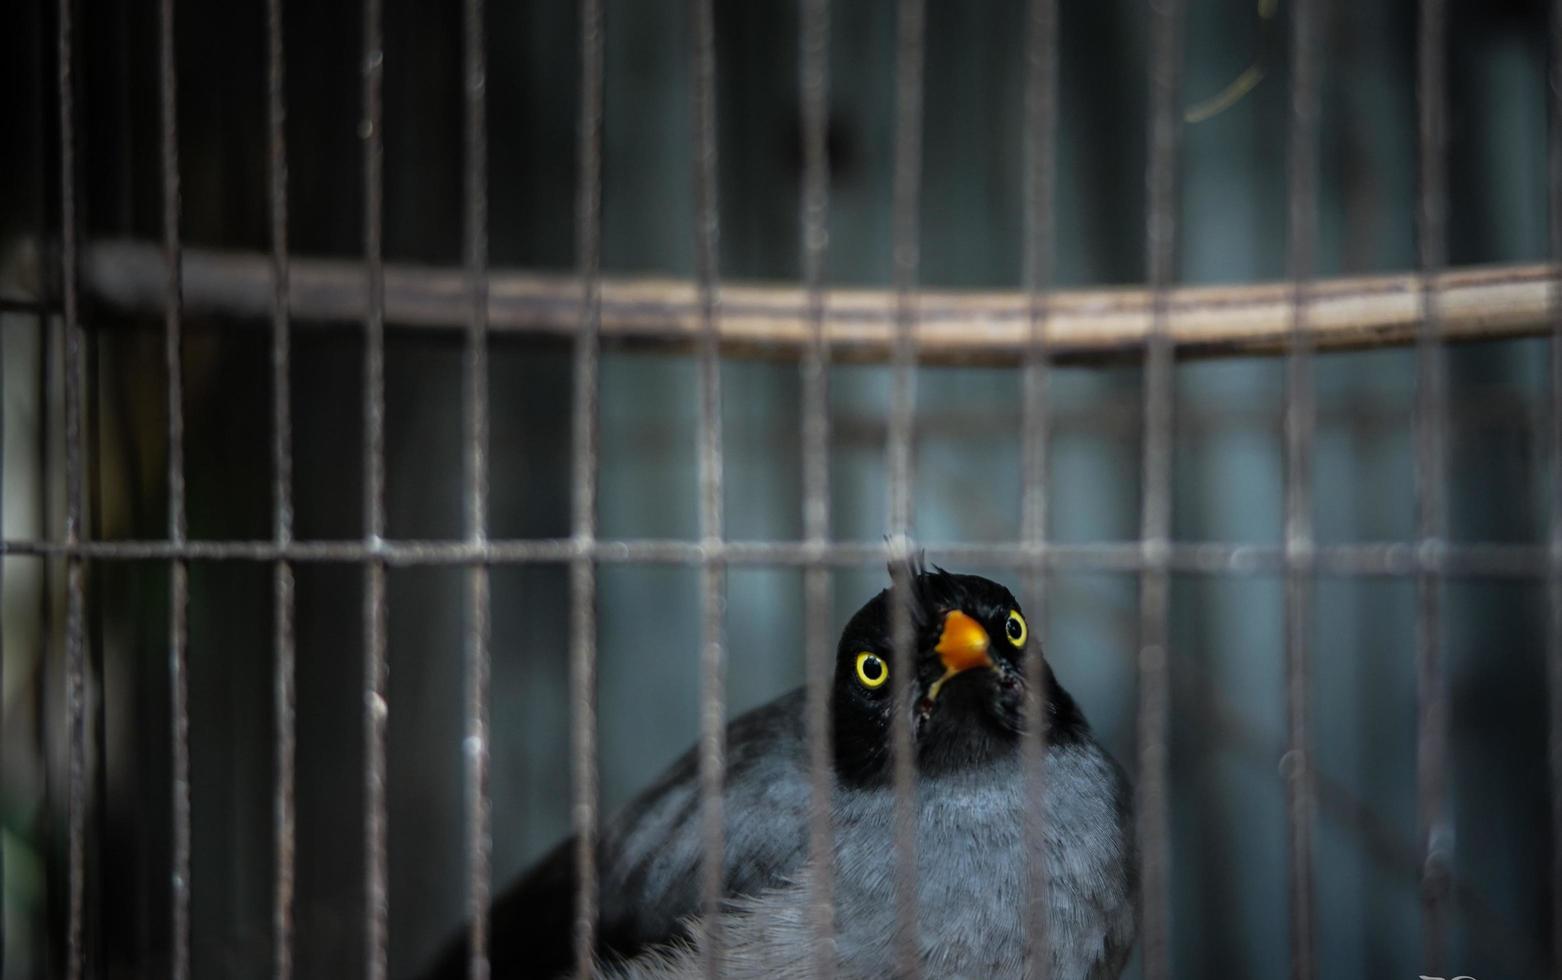
[[[178,3],[183,236],[270,247],[264,5]],[[1190,5],[1184,102],[1246,67],[1264,78],[1186,127],[1178,275],[1189,283],[1286,270],[1289,5]],[[1539,261],[1546,252],[1545,8],[1456,0],[1448,50],[1450,259]],[[1145,278],[1147,8],[1061,5],[1056,281]],[[1415,264],[1415,13],[1409,0],[1334,3],[1323,50],[1323,275]],[[795,280],[801,133],[797,8],[715,5],[720,267]],[[922,281],[1012,289],[1022,269],[1022,0],[928,9]],[[286,97],[291,247],[361,255],[361,11],[289,0]],[[156,11],[81,0],[81,202],[92,236],[161,236]],[[386,256],[461,263],[461,11],[387,0]],[[573,266],[576,11],[501,5],[487,16],[494,266]],[[834,5],[831,284],[889,284],[893,5]],[[58,225],[52,5],[16,3],[0,31],[0,286],[36,291]],[[612,275],[694,269],[689,31],[679,5],[606,3],[603,259]],[[47,241],[47,238],[45,238]],[[48,258],[41,258],[48,256]],[[91,533],[167,535],[161,319],[87,309]],[[0,314],[3,530],[61,535],[59,327]],[[461,333],[387,334],[389,538],[461,538]],[[192,538],[269,538],[267,322],[186,320]],[[294,322],[298,539],[362,536],[362,331]],[[1314,466],[1320,542],[1414,538],[1415,355],[1317,361]],[[1546,541],[1543,339],[1450,352],[1450,528],[1459,541]],[[494,538],[569,535],[570,349],[492,339]],[[601,361],[600,533],[695,538],[695,363],[609,349]],[[1279,544],[1284,361],[1176,367],[1173,522],[1179,541]],[[801,536],[798,369],[726,359],[726,530]],[[1048,535],[1139,535],[1142,369],[1057,367]],[[833,533],[878,541],[886,520],[889,369],[831,372]],[[915,533],[925,544],[1020,533],[1020,372],[923,367],[917,377]],[[998,578],[1014,578],[990,569]],[[3,564],[5,975],[61,975],[64,947],[62,564]],[[297,569],[298,975],[362,969],[361,588],[347,564]],[[836,624],[886,585],[834,577]],[[1009,581],[1018,588],[1018,581]],[[1045,583],[1048,655],[1104,744],[1134,767],[1137,580]],[[102,735],[92,780],[87,936],[103,975],[169,964],[169,697],[166,563],[89,566],[89,642]],[[567,570],[492,574],[495,883],[569,827]],[[697,733],[698,572],[600,570],[600,749],[612,808]],[[1176,975],[1287,969],[1279,577],[1176,577],[1172,603],[1173,944]],[[1414,583],[1325,578],[1314,624],[1317,947],[1320,975],[1414,977],[1420,964],[1415,817]],[[272,588],[259,563],[194,563],[189,613],[192,969],[270,975]],[[1456,824],[1453,972],[1539,975],[1546,964],[1551,849],[1545,777],[1546,600],[1534,580],[1453,580],[1445,655]],[[734,569],[728,706],[800,683],[801,574]],[[389,574],[390,972],[419,969],[464,910],[462,572]],[[1137,975],[1136,964],[1131,972]]]

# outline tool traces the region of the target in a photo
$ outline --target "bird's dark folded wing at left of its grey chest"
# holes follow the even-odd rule
[[[631,955],[681,935],[700,911],[700,761],[689,750],[603,827],[597,850],[598,952]],[[748,894],[783,880],[806,857],[809,802],[803,692],[793,691],[726,728],[723,891]],[[575,839],[548,852],[495,903],[489,961],[495,980],[556,977],[573,964]],[[465,975],[465,939],[431,980]]]

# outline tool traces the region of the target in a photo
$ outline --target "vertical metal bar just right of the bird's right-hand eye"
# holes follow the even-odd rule
[[[1025,594],[1031,614],[1031,641],[1026,649],[1023,742],[1028,805],[1025,808],[1026,853],[1026,975],[1047,980],[1051,953],[1047,938],[1048,880],[1043,814],[1047,807],[1045,731],[1045,650],[1042,635],[1047,619],[1043,556],[1047,545],[1047,456],[1050,420],[1047,417],[1048,286],[1053,277],[1053,202],[1057,147],[1057,2],[1031,0],[1025,34],[1025,256],[1023,281],[1029,308],[1029,338],[1025,350],[1022,425],[1022,516],[1020,538],[1028,550]]]

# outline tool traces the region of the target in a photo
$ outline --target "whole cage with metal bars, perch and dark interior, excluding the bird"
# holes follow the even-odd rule
[[[5,977],[486,975],[797,685],[828,847],[914,549],[1129,771],[1125,975],[1562,975],[1557,11],[8,22]]]

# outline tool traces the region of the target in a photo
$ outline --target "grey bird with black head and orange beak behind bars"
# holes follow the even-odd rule
[[[722,885],[701,917],[698,760],[694,750],[604,827],[597,849],[597,974],[612,980],[704,975],[719,935],[722,974],[812,975],[809,900],[831,875],[839,975],[1022,977],[1028,900],[1023,769],[1026,652],[1034,639],[1014,594],[978,575],[890,566],[890,588],[847,622],[831,681],[828,860],[809,858],[811,783],[804,692],[726,730]],[[892,617],[909,621],[908,677],[892,685]],[[1053,980],[1120,975],[1136,938],[1137,861],[1131,789],[1073,697],[1043,661],[1042,947]],[[895,700],[900,691],[903,702]],[[915,761],[915,949],[897,919],[893,713],[908,711]],[[575,844],[562,842],[492,908],[490,975],[553,977],[573,964]],[[459,950],[459,944],[458,944]],[[464,975],[464,955],[439,980]]]

